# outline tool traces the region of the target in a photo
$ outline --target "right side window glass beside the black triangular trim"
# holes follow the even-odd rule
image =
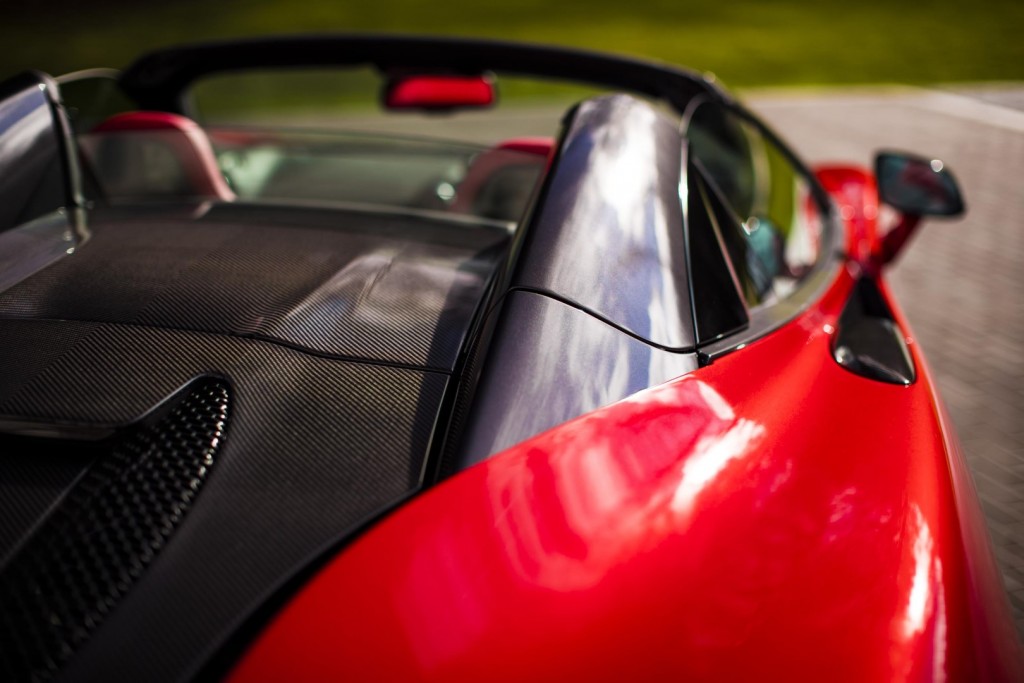
[[[760,129],[720,104],[697,106],[687,137],[721,202],[712,204],[748,304],[784,298],[821,252],[824,213],[809,179]]]

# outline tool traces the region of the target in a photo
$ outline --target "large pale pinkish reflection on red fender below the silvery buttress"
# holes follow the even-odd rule
[[[495,525],[510,566],[553,590],[597,584],[688,525],[701,494],[764,432],[696,380],[549,432],[526,467],[492,468]]]

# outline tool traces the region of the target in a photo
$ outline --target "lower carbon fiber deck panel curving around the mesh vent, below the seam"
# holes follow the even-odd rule
[[[232,388],[203,496],[67,665],[71,680],[175,680],[290,572],[419,484],[446,375],[265,341],[0,319],[0,418],[121,425],[200,375]],[[17,340],[27,340],[18,342]]]

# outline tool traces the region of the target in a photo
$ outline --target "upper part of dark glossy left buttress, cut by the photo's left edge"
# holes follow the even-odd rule
[[[32,75],[0,84],[0,230],[69,204],[59,129]]]

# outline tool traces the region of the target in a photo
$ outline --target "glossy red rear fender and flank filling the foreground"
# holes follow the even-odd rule
[[[852,284],[402,507],[231,679],[1021,680],[915,347],[908,387],[831,359]]]

